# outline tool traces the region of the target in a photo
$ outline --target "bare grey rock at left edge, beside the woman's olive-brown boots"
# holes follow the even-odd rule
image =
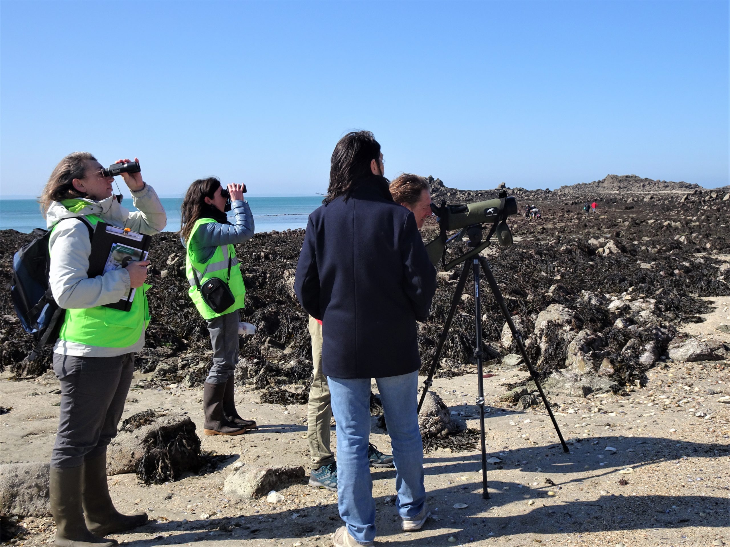
[[[0,465],[0,514],[50,516],[47,463]]]

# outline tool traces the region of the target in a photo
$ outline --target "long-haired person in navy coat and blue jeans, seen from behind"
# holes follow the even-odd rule
[[[380,144],[347,133],[332,153],[323,206],[310,214],[296,269],[301,306],[322,321],[322,367],[337,420],[335,547],[372,546],[369,472],[374,378],[391,435],[401,528],[429,517],[418,430],[418,327],[429,315],[436,271],[412,212],[393,201]],[[310,322],[310,325],[312,322]]]

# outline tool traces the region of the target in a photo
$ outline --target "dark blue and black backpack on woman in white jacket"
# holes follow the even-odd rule
[[[89,230],[89,239],[93,237],[93,228],[83,217],[81,220]],[[59,220],[63,222],[66,219]],[[56,225],[58,225],[56,222]],[[36,228],[31,233],[37,236],[24,245],[12,257],[12,285],[10,297],[15,314],[26,333],[33,335],[36,345],[28,355],[28,361],[34,361],[46,344],[53,344],[64,323],[66,310],[59,308],[50,291],[48,274],[50,269],[50,253],[48,241],[53,230]]]

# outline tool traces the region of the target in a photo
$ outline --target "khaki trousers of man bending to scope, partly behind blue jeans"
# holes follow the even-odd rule
[[[322,325],[314,317],[310,317],[309,327],[314,377],[307,407],[307,442],[310,445],[310,468],[319,469],[334,462],[334,454],[329,447],[332,407],[329,404],[327,378],[322,373]]]

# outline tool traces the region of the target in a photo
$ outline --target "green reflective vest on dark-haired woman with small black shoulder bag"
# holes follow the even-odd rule
[[[198,309],[203,319],[212,319],[220,315],[230,314],[231,311],[242,309],[244,306],[244,295],[246,294],[246,287],[243,284],[243,274],[241,273],[241,265],[236,258],[236,247],[233,245],[219,245],[216,247],[212,257],[205,262],[199,262],[196,260],[195,253],[191,248],[190,241],[193,241],[193,235],[195,230],[201,227],[201,225],[208,224],[209,222],[216,222],[212,218],[200,218],[196,220],[193,225],[193,229],[190,231],[188,241],[185,241],[185,245],[188,248],[188,252],[185,256],[185,276],[188,278],[190,289],[188,295],[193,300],[195,307]],[[231,260],[231,277],[228,279],[228,259]],[[231,293],[236,299],[233,305],[223,311],[222,314],[216,314],[207,303],[204,302],[203,296],[198,290],[198,285],[193,277],[193,268],[195,268],[198,276],[198,281],[201,286],[205,284],[207,279],[212,277],[218,277],[228,283],[228,288],[231,289]]]

